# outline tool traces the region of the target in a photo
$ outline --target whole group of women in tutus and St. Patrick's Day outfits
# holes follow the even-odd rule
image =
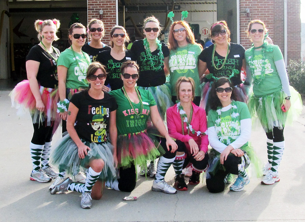
[[[127,50],[129,37],[123,27],[112,28],[109,47],[101,41],[102,21],[93,19],[87,30],[80,23],[71,25],[71,46],[61,54],[52,46],[59,25],[56,19],[35,22],[41,42],[27,56],[28,80],[11,93],[12,102],[30,109],[33,119],[31,180],[49,182],[56,177],[51,194],[80,192],[81,207],[91,208],[91,198],[102,197],[105,183],[131,192],[136,166],[146,168],[146,161],[152,161],[154,168],[160,157],[152,191],[187,190],[182,173],[186,167],[192,169],[188,184],[198,184],[200,173],[206,171],[208,190],[221,192],[229,174],[235,174],[230,190],[242,191],[249,183],[250,160],[257,165],[248,145],[251,115],[257,115],[267,135],[268,164],[262,183],[279,181],[283,129],[294,95],[281,51],[264,41],[267,29],[262,21],[249,23],[247,33],[254,46],[248,50],[230,43],[225,21],[212,25],[214,44],[202,50],[187,22],[171,25],[167,47],[157,39],[158,19],[148,17],[143,22],[145,38]],[[85,44],[88,34],[91,41]],[[242,68],[247,71],[244,85],[250,86],[254,78],[251,112]],[[60,119],[67,133],[51,156],[57,172],[49,156]],[[174,187],[164,180],[171,165]]]

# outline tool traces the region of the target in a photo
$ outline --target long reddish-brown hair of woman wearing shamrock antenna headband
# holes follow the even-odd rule
[[[200,46],[201,50],[202,50],[202,46],[198,43],[195,42],[195,37],[194,34],[192,32],[191,27],[189,26],[189,24],[186,21],[175,21],[171,26],[170,26],[170,34],[169,34],[169,38],[168,38],[168,47],[169,50],[176,50],[178,47],[177,44],[177,40],[174,38],[174,26],[176,24],[180,24],[185,28],[186,31],[186,41],[190,44],[196,44],[198,46]]]

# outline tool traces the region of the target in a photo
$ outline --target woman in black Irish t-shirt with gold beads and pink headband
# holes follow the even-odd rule
[[[211,38],[214,44],[205,48],[198,57],[199,76],[203,76],[206,82],[202,87],[200,107],[206,112],[210,110],[208,100],[213,82],[213,78],[210,77],[212,74],[219,78],[229,77],[234,72],[231,81],[236,87],[238,100],[247,101],[240,74],[242,68],[246,70],[245,48],[240,44],[230,43],[230,30],[226,21],[219,21],[212,25]],[[210,75],[204,74],[207,69]]]

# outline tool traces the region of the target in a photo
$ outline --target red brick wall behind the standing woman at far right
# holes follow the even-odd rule
[[[284,54],[284,0],[240,0],[240,43],[248,49],[251,42],[247,38],[247,25],[251,20],[263,20],[275,45]],[[250,9],[249,17],[245,9]],[[301,20],[300,0],[287,0],[287,58],[300,59]]]

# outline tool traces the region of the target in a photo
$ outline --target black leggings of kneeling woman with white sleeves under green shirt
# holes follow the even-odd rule
[[[211,193],[219,193],[224,191],[224,178],[229,174],[238,174],[238,165],[242,163],[241,157],[236,157],[234,154],[229,154],[227,160],[224,161],[224,168],[222,166],[216,171],[214,175],[208,172],[206,175],[206,187]]]

